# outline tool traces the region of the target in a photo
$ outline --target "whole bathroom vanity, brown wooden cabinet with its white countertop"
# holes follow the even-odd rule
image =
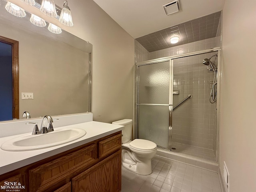
[[[86,135],[40,150],[1,149],[1,189],[14,186],[20,192],[121,191],[122,126],[90,121],[61,128],[66,127],[83,128]],[[0,138],[1,144],[12,137]]]

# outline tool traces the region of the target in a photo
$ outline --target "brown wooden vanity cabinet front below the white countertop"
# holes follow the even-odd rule
[[[22,192],[119,192],[121,131],[0,175],[25,185]]]

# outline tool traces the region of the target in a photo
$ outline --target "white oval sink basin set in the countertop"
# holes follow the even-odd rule
[[[83,137],[86,131],[79,128],[54,129],[46,134],[26,135],[10,139],[1,145],[6,151],[29,151],[53,147],[77,140]]]

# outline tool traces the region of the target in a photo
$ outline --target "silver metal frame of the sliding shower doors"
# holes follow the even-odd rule
[[[207,50],[202,50],[202,51],[196,51],[196,52],[190,52],[190,53],[185,53],[185,54],[179,54],[179,55],[174,55],[174,56],[170,56],[170,57],[164,57],[164,58],[158,58],[158,59],[154,59],[154,60],[148,60],[148,61],[143,61],[143,62],[138,62],[135,64],[135,106],[134,106],[134,128],[135,128],[135,132],[134,132],[134,138],[138,138],[138,116],[139,116],[139,108],[138,106],[140,105],[138,103],[139,100],[139,66],[143,66],[143,65],[148,65],[148,64],[154,64],[154,63],[160,63],[160,62],[165,62],[165,61],[169,61],[170,64],[170,84],[169,84],[169,104],[150,104],[150,105],[169,105],[169,128],[168,128],[168,148],[163,148],[158,146],[158,148],[162,148],[165,150],[171,150],[172,148],[172,92],[173,92],[173,60],[177,59],[177,58],[182,58],[182,57],[187,57],[187,56],[194,56],[194,55],[199,55],[199,54],[205,54],[205,53],[210,53],[210,52],[218,52],[218,86],[217,86],[217,100],[220,99],[220,47],[216,47],[216,48],[211,48],[211,49],[207,49]],[[217,132],[216,132],[216,161],[218,159],[218,140],[219,140],[219,134],[218,134],[218,127],[219,127],[219,104],[220,102],[217,103]],[[148,104],[149,105],[149,104]]]

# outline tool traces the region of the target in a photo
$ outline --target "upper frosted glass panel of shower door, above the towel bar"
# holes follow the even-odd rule
[[[139,103],[169,104],[170,62],[139,67]]]

